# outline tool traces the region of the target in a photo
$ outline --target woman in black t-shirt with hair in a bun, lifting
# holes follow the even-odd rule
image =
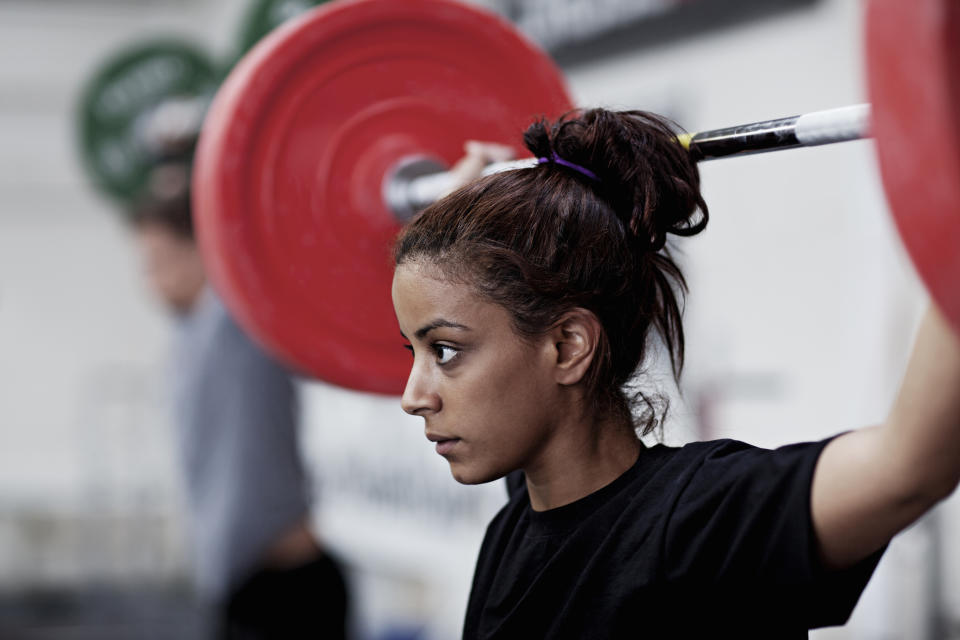
[[[403,408],[463,483],[523,470],[490,524],[466,638],[806,637],[846,621],[883,548],[960,477],[960,341],[935,308],[881,426],[774,451],[645,447],[652,334],[683,363],[668,234],[703,230],[695,163],[643,112],[524,136],[397,241]]]

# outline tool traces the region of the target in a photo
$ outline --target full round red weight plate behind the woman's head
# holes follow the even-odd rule
[[[305,373],[401,392],[384,174],[412,155],[450,164],[467,139],[519,151],[532,119],[570,108],[551,60],[476,8],[358,0],[287,23],[230,74],[201,134],[194,208],[215,288]]]

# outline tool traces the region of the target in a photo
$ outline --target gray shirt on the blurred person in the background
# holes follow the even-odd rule
[[[197,588],[223,602],[307,513],[296,389],[209,291],[181,319],[174,365]]]

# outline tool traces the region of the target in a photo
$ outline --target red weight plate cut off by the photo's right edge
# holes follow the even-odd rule
[[[960,3],[872,0],[873,133],[900,236],[960,330]]]

